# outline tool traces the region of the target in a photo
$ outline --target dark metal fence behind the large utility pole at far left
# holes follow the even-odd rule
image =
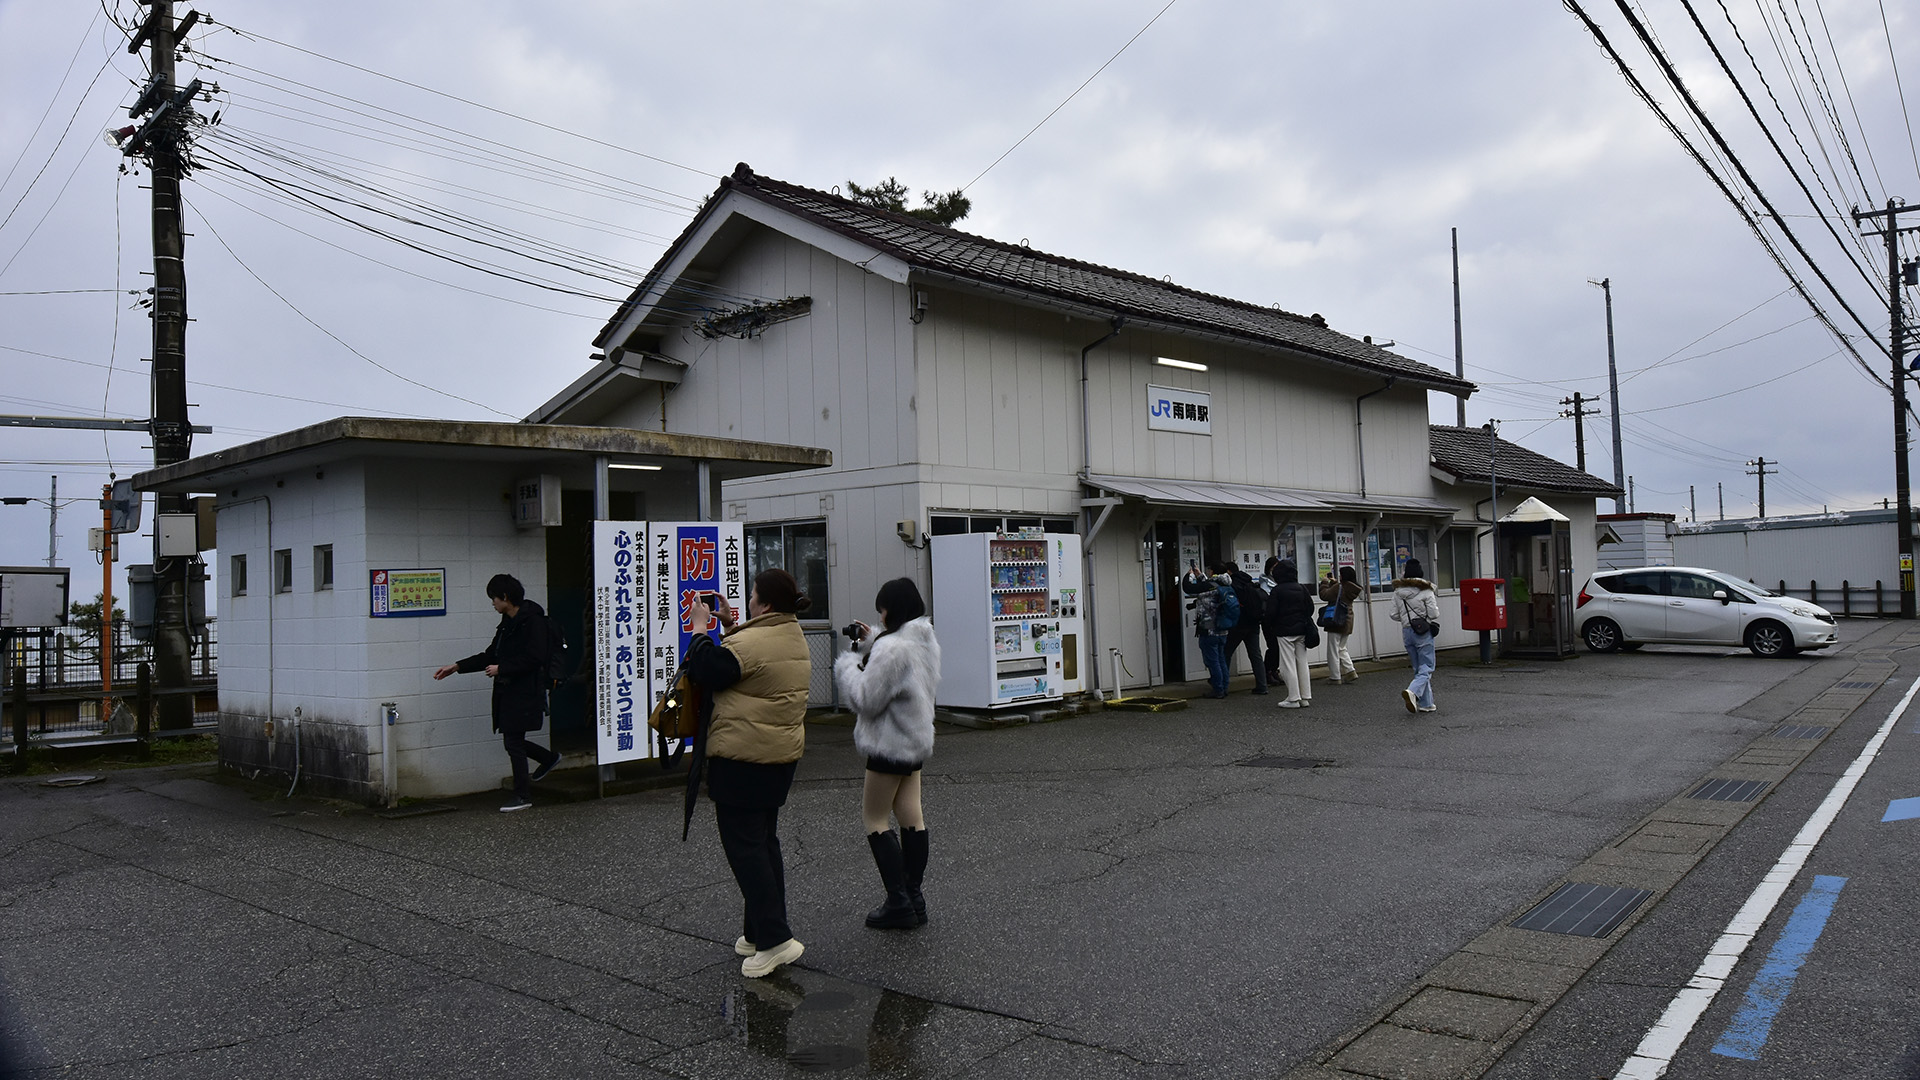
[[[0,655],[0,751],[12,751],[17,732],[48,744],[131,736],[138,726],[138,671],[152,665],[154,646],[134,642],[121,621],[113,623],[111,686],[102,688],[100,638],[42,630],[17,634]],[[125,646],[121,642],[127,642]],[[207,623],[194,638],[188,665],[194,728],[217,726],[219,634]],[[21,724],[25,719],[25,724]]]

